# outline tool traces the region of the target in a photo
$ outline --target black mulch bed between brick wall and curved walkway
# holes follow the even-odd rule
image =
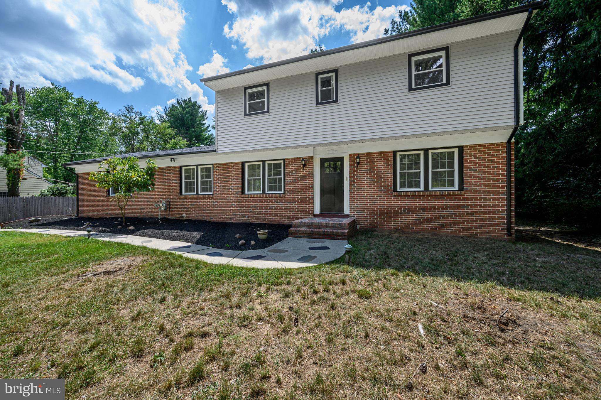
[[[117,217],[112,218],[77,218],[77,217],[42,217],[40,222],[29,223],[27,220],[13,222],[5,228],[49,228],[85,231],[86,222],[91,223],[94,232],[135,235],[165,240],[181,240],[186,243],[212,246],[216,249],[254,250],[264,249],[288,237],[290,225],[276,223],[251,222],[210,222],[195,219],[164,219],[127,217],[126,225]],[[121,226],[121,228],[119,228]],[[127,229],[133,226],[134,229]],[[257,231],[267,229],[266,240],[257,237]],[[242,238],[236,238],[236,235]],[[240,240],[246,244],[240,246]],[[251,241],[255,244],[252,245]],[[229,246],[228,246],[229,245]]]

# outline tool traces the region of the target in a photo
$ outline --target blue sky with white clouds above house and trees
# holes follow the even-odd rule
[[[402,1],[402,0],[401,0]],[[203,76],[382,36],[406,5],[340,0],[0,0],[0,82],[64,85],[109,112],[177,97],[207,109]]]

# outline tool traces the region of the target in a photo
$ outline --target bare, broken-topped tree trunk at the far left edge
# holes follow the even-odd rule
[[[11,104],[13,102],[13,86],[14,82],[11,80],[8,89],[2,88],[2,96],[4,101],[2,105]],[[8,117],[6,120],[6,150],[4,153],[13,154],[19,153],[23,149],[23,139],[25,139],[25,132],[23,131],[23,121],[25,120],[25,88],[17,85],[15,88],[17,94],[17,110],[10,109],[8,111]],[[21,177],[23,175],[23,160],[21,160],[21,168],[7,168],[7,187],[8,197],[19,197],[19,186],[21,184]]]

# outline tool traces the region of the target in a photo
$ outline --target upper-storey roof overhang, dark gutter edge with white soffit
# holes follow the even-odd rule
[[[323,52],[271,62],[258,67],[210,76],[201,79],[201,82],[209,88],[219,91],[303,73],[327,70],[341,65],[354,64],[355,62],[438,47],[457,41],[519,31],[526,20],[528,10],[535,11],[541,7],[543,7],[543,1],[535,1],[520,7],[496,11],[495,13],[441,23]]]

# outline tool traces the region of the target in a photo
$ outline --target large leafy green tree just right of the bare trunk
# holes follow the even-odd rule
[[[71,161],[117,153],[117,143],[106,131],[109,114],[94,100],[75,97],[64,86],[33,88],[28,92],[26,150],[49,166],[47,178],[73,181],[62,168]]]

